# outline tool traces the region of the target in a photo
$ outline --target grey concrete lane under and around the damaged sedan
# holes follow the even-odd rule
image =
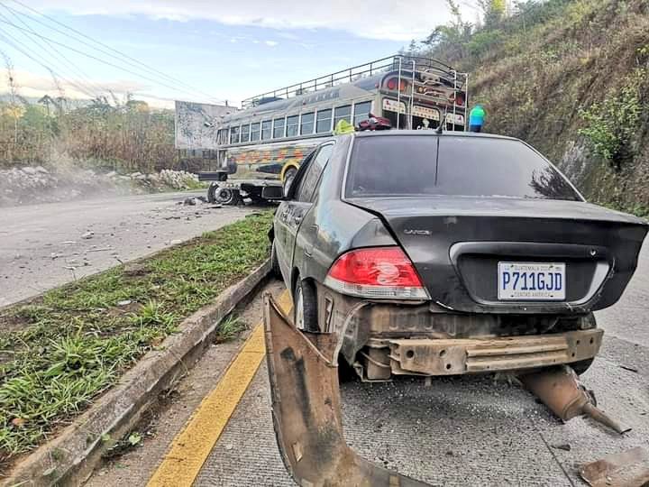
[[[599,358],[582,376],[599,406],[633,427],[625,436],[590,419],[562,424],[515,384],[492,376],[345,383],[343,423],[364,457],[433,485],[585,485],[579,465],[633,446],[649,448],[649,247],[625,297],[598,313],[606,330]],[[279,283],[271,289],[281,290]],[[244,314],[261,319],[259,302]],[[235,354],[215,345],[178,385],[142,446],[105,464],[90,486],[145,485],[201,399]],[[629,370],[631,369],[631,370]],[[636,371],[636,372],[634,372]],[[279,458],[265,364],[198,473],[194,485],[294,485]]]

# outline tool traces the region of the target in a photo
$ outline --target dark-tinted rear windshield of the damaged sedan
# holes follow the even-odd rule
[[[567,179],[525,143],[452,135],[357,138],[345,195],[347,198],[452,195],[580,201]]]

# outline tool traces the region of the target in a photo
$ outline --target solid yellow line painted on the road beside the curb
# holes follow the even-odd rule
[[[287,290],[278,302],[285,311],[291,308]],[[174,438],[148,487],[191,487],[265,355],[264,329],[260,323],[235,355],[215,390],[201,401],[185,429]]]

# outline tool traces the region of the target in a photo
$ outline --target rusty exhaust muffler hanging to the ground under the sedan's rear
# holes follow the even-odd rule
[[[577,374],[567,365],[527,373],[518,379],[563,421],[587,415],[620,435],[631,431],[630,427],[621,426],[593,404],[590,395],[577,380]]]

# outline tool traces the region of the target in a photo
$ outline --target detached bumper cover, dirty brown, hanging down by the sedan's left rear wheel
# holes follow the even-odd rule
[[[338,336],[297,330],[264,295],[272,416],[288,473],[303,487],[425,487],[372,464],[344,440]]]

